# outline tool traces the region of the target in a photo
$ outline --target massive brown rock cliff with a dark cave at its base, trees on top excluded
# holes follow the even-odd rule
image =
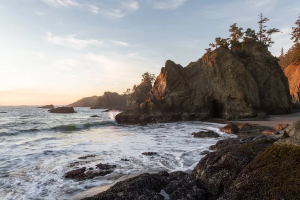
[[[169,122],[289,113],[288,81],[276,58],[258,43],[244,48],[246,53],[218,48],[186,67],[167,60],[144,102],[116,120]]]

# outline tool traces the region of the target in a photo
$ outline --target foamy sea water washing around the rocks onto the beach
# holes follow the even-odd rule
[[[80,199],[143,172],[190,171],[202,151],[219,139],[235,136],[220,132],[223,124],[119,125],[114,120],[118,112],[74,109],[77,113],[58,114],[36,106],[0,106],[0,112],[7,112],[0,113],[0,199]],[[99,117],[90,117],[94,114]],[[220,137],[191,135],[200,130],[213,130]],[[158,154],[141,154],[148,151]],[[78,158],[86,155],[93,157]],[[94,179],[64,178],[75,167],[98,163],[116,164],[116,168]]]

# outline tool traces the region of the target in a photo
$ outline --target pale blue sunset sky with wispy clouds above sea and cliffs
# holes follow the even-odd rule
[[[298,0],[0,0],[0,105],[65,105],[122,93],[167,59],[186,66],[229,26],[279,28],[287,50]]]

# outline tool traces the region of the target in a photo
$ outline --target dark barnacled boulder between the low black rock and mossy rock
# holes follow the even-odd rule
[[[275,141],[271,138],[243,142],[233,139],[225,140],[226,142],[219,142],[217,145],[219,150],[203,157],[190,174],[196,179],[204,179],[210,192],[215,196],[226,192],[243,168]]]

